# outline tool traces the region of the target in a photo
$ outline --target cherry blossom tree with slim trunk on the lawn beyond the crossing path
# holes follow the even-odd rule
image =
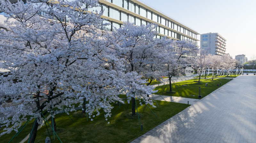
[[[198,47],[188,40],[173,40],[172,47],[168,47],[165,56],[165,70],[170,82],[170,92],[172,92],[172,76],[181,76],[182,71],[190,65],[194,58],[188,55],[196,55]]]

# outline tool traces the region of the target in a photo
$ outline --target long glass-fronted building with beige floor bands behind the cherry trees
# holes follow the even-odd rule
[[[17,0],[10,1],[15,2]],[[166,36],[175,40],[185,39],[196,45],[200,41],[197,39],[198,32],[140,0],[99,0],[99,4],[101,7],[90,8],[88,11],[104,10],[102,18],[108,19],[104,22],[109,23],[109,25],[103,26],[102,30],[113,31],[115,30],[114,27],[121,27],[124,21],[129,21],[134,25],[156,23],[158,25],[156,30],[159,32],[156,38],[161,39]],[[40,12],[39,14],[44,15]],[[0,13],[1,15],[4,13]]]

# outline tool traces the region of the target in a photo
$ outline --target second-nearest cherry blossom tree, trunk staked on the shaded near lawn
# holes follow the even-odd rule
[[[159,78],[160,61],[163,55],[162,49],[168,45],[169,41],[165,38],[156,39],[156,26],[155,24],[148,24],[142,26],[134,26],[132,23],[124,22],[121,28],[111,33],[113,39],[109,45],[112,44],[112,49],[115,50],[116,56],[124,61],[125,73],[137,73],[143,76],[147,81]],[[136,75],[136,76],[138,76]],[[152,104],[151,100],[148,100],[150,95],[156,91],[153,91],[152,86],[148,86],[149,83],[145,81],[147,85],[135,84],[136,79],[130,80],[126,84],[128,103],[132,100],[132,115],[135,115],[135,98],[144,100],[146,104]],[[141,102],[140,102],[141,104]]]

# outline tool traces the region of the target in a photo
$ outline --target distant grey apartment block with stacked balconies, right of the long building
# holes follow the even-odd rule
[[[226,54],[226,39],[219,33],[205,33],[200,36],[201,48],[207,48],[208,54],[224,55]]]

